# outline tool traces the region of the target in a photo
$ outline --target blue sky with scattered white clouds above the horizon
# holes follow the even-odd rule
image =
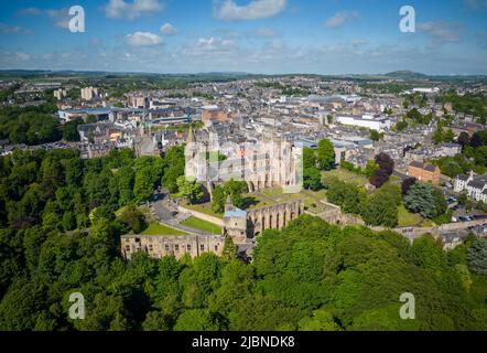
[[[487,0],[0,0],[8,68],[485,75]]]

